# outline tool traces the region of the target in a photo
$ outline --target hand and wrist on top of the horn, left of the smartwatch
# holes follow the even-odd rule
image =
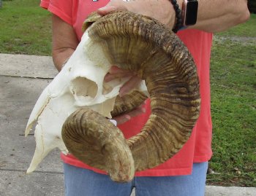
[[[182,2],[177,1],[181,8]],[[107,15],[109,12],[127,10],[140,15],[154,17],[168,28],[173,28],[176,20],[176,13],[173,4],[168,0],[112,0],[105,7],[97,10],[99,15]]]

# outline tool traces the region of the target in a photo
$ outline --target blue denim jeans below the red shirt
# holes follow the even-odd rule
[[[104,174],[64,163],[66,196],[203,196],[208,162],[194,163],[192,175],[135,177],[128,183],[116,183]]]

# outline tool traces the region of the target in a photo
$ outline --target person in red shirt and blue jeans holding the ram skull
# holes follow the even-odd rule
[[[155,168],[136,172],[135,179],[129,183],[118,184],[104,171],[80,162],[72,154],[61,154],[65,194],[123,196],[130,195],[132,187],[136,187],[136,196],[204,195],[206,170],[212,155],[209,70],[213,33],[248,20],[247,1],[41,0],[40,6],[53,13],[53,62],[59,71],[78,46],[83,35],[83,21],[91,12],[108,15],[128,10],[153,17],[167,28],[178,31],[178,37],[195,60],[200,81],[200,116],[189,140],[176,155]],[[121,87],[120,95],[125,95],[140,82],[137,75],[116,66],[110,68],[105,81],[117,77],[130,77]],[[118,128],[130,138],[140,132],[150,112],[147,100],[138,109],[116,117]]]

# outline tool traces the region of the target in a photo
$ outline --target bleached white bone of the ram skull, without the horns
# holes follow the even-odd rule
[[[36,149],[27,173],[33,172],[52,149],[68,153],[61,138],[61,128],[72,112],[80,108],[93,109],[111,118],[110,111],[118,91],[129,78],[105,83],[103,80],[110,66],[102,47],[92,42],[86,31],[73,55],[43,90],[31,112],[25,136],[37,122]],[[146,93],[145,82],[141,82],[138,89]]]

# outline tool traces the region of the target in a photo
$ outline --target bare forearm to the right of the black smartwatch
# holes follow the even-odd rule
[[[225,31],[249,19],[246,0],[198,0],[197,23],[189,28]]]

